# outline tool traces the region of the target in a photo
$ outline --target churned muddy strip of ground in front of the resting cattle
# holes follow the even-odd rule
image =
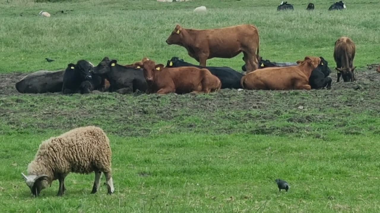
[[[121,136],[160,133],[249,133],[313,136],[331,131],[380,134],[380,74],[359,70],[354,83],[311,91],[237,91],[210,95],[97,93],[20,94],[25,74],[0,74],[0,117],[6,132],[68,130],[99,125]],[[327,138],[325,138],[327,139]]]

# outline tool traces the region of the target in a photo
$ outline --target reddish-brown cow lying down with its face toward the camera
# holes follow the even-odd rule
[[[167,68],[163,64],[155,65],[154,61],[142,64],[144,77],[148,84],[147,93],[166,94],[175,92],[209,93],[220,90],[222,83],[207,69],[197,67]]]

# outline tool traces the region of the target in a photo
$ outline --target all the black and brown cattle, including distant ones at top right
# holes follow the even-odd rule
[[[313,9],[310,3],[307,9]],[[345,9],[342,1],[330,9]],[[293,9],[282,2],[277,8]],[[209,93],[220,89],[321,89],[331,88],[331,70],[322,57],[306,56],[296,63],[275,63],[259,56],[260,39],[258,28],[250,24],[232,27],[195,30],[176,25],[166,39],[168,45],[184,47],[188,55],[199,62],[199,66],[173,57],[164,64],[149,58],[128,65],[117,64],[108,57],[93,66],[86,60],[68,64],[66,70],[55,72],[40,70],[29,74],[16,83],[21,93],[62,92],[63,94],[90,93],[94,90],[126,94],[136,91],[158,94],[175,92]],[[237,72],[230,67],[210,67],[211,58],[233,58],[243,53],[244,65]],[[337,82],[355,81],[353,60],[355,43],[347,37],[336,40],[334,60]]]

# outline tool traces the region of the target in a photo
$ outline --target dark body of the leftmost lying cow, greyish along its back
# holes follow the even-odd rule
[[[26,75],[17,81],[16,89],[20,93],[46,93],[62,91],[63,73],[65,70],[39,70]]]

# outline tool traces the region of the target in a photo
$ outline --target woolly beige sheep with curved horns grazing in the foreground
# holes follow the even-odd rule
[[[95,172],[91,194],[98,191],[103,172],[108,194],[112,194],[111,154],[109,139],[101,128],[79,127],[44,141],[28,165],[28,175],[21,174],[34,196],[38,196],[53,180],[59,180],[57,195],[62,196],[66,190],[65,177],[70,172]]]

